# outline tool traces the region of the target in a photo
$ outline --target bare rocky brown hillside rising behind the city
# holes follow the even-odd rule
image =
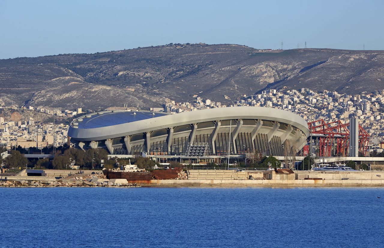
[[[383,51],[169,44],[95,54],[0,60],[0,106],[98,110],[158,107],[198,94],[228,103],[268,88],[380,90]]]

